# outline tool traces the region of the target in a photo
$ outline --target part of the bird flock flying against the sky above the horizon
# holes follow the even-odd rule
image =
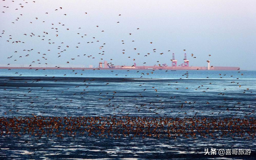
[[[12,1],[13,3],[16,3],[16,1]],[[35,1],[32,1],[33,3],[36,3]],[[25,2],[25,4],[22,4],[20,3],[19,6],[21,8],[16,8],[15,10],[22,10],[22,9],[26,9],[26,4],[28,2]],[[6,11],[3,11],[2,13],[6,14],[6,13],[9,13],[10,12],[10,8],[9,6],[3,6],[5,8]],[[64,10],[64,8],[62,7],[58,7],[54,10],[54,12],[58,12],[60,10]],[[22,12],[21,12],[22,13]],[[50,16],[50,14],[54,14],[56,15],[56,13],[50,13],[50,12],[45,12],[45,14],[47,14],[47,16],[45,17],[46,19],[48,18],[48,16]],[[48,15],[49,14],[49,15]],[[84,16],[87,16],[87,12],[84,12]],[[18,23],[19,21],[22,20],[22,16],[24,16],[24,14],[19,14],[19,17],[17,17],[15,20],[17,22],[11,22],[12,24],[16,25],[16,23]],[[63,15],[60,15],[58,14],[58,16],[63,16],[63,19],[65,18],[65,16],[67,16],[67,14],[63,14]],[[121,16],[121,14],[118,14],[118,16]],[[120,19],[120,18],[118,18]],[[40,22],[37,22],[37,21],[40,21]],[[8,59],[14,59],[14,62],[18,62],[20,60],[20,58],[24,58],[24,57],[29,57],[29,56],[36,56],[36,52],[37,52],[37,57],[40,57],[40,58],[37,58],[35,60],[32,60],[31,62],[27,62],[27,63],[30,63],[29,66],[26,66],[26,67],[34,67],[34,66],[37,66],[38,64],[40,65],[43,65],[43,66],[46,66],[48,67],[48,56],[50,55],[50,57],[52,57],[52,55],[54,53],[56,53],[56,58],[61,58],[61,57],[65,57],[65,61],[66,61],[66,64],[74,64],[75,63],[75,60],[77,59],[81,59],[81,57],[87,57],[87,58],[92,58],[92,59],[95,59],[95,58],[99,58],[99,56],[97,55],[89,55],[89,54],[79,54],[77,55],[76,57],[73,57],[73,58],[69,58],[69,59],[66,59],[66,55],[67,54],[71,54],[70,52],[76,52],[76,53],[79,53],[81,52],[81,50],[79,50],[80,47],[83,47],[83,45],[85,46],[86,44],[92,44],[92,43],[97,43],[97,47],[100,49],[101,52],[99,52],[98,54],[101,55],[101,57],[99,58],[99,61],[100,60],[105,60],[106,58],[104,58],[104,55],[106,54],[105,51],[104,51],[104,47],[106,46],[106,43],[102,43],[102,44],[98,44],[100,42],[100,38],[96,38],[96,36],[92,36],[92,40],[93,41],[88,41],[88,42],[84,42],[84,38],[88,37],[87,34],[84,34],[84,33],[81,33],[83,32],[82,28],[81,27],[77,27],[76,29],[73,28],[72,30],[72,34],[74,34],[76,32],[76,35],[73,35],[73,37],[75,37],[77,40],[79,38],[82,38],[81,40],[82,41],[79,41],[76,43],[76,45],[74,43],[71,43],[71,44],[66,44],[66,42],[60,42],[60,40],[63,40],[63,38],[65,36],[67,36],[68,34],[70,34],[69,32],[71,32],[70,28],[67,28],[65,24],[62,24],[61,22],[47,22],[47,20],[40,20],[38,17],[34,17],[34,20],[30,20],[29,22],[31,25],[33,25],[34,23],[36,23],[36,25],[42,25],[42,26],[47,26],[47,25],[50,25],[51,28],[49,28],[50,30],[48,30],[47,28],[44,28],[44,31],[42,31],[40,34],[38,33],[35,33],[35,32],[38,32],[38,31],[35,31],[35,32],[30,32],[30,33],[22,33],[23,36],[26,36],[25,39],[29,41],[29,43],[32,42],[33,43],[38,43],[37,40],[41,40],[40,45],[45,45],[45,44],[48,44],[50,45],[49,48],[51,49],[46,49],[46,50],[38,50],[38,51],[35,51],[33,48],[24,48],[22,50],[14,50],[14,55],[12,56],[9,56]],[[117,22],[118,24],[120,23],[120,21]],[[17,25],[20,25],[20,24],[17,24]],[[33,26],[34,27],[34,26]],[[96,28],[100,28],[101,26],[98,26],[96,25],[95,26]],[[136,28],[136,30],[139,30],[140,28]],[[104,30],[98,30],[98,32],[104,32]],[[37,35],[36,35],[37,34]],[[97,34],[100,36],[100,34]],[[127,32],[127,35],[132,35],[132,33],[129,33]],[[14,38],[16,37],[13,37],[13,36],[16,36],[16,35],[8,35],[6,34],[6,30],[2,30],[2,35],[0,36],[0,38],[6,38],[6,42],[9,42],[9,43],[12,43],[12,44],[17,44],[19,45],[20,43],[21,44],[24,44],[26,42],[26,40],[21,40],[18,39],[18,40],[14,40]],[[19,35],[20,36],[20,35]],[[27,36],[29,36],[30,38],[33,38],[32,41],[29,40],[27,38]],[[59,39],[58,39],[58,38]],[[54,40],[56,40],[57,42],[54,42]],[[130,40],[130,38],[129,38]],[[35,41],[35,42],[33,42]],[[46,42],[45,42],[46,41]],[[135,40],[131,40],[131,42],[135,42]],[[153,42],[148,42],[148,44],[152,44]],[[125,44],[124,40],[121,40],[121,44]],[[137,44],[138,45],[138,44]],[[32,45],[31,45],[32,46]],[[14,46],[13,48],[20,48],[20,47],[16,47]],[[72,49],[71,49],[72,48]],[[74,50],[74,48],[78,49],[78,50]],[[125,47],[124,47],[125,48]],[[152,46],[149,46],[149,48],[152,48]],[[56,50],[57,49],[57,50]],[[84,48],[83,48],[84,49]],[[135,47],[131,50],[137,50],[138,48]],[[156,48],[152,48],[151,52],[152,53],[156,53],[157,49]],[[185,51],[185,50],[184,50]],[[22,53],[23,52],[23,53]],[[24,55],[24,52],[29,52],[29,54],[26,54]],[[128,49],[129,54],[131,53],[131,51]],[[168,52],[170,52],[170,50],[168,50]],[[18,53],[21,53],[21,55],[18,55]],[[125,54],[126,53],[126,49],[122,49],[122,51],[120,51],[120,54]],[[135,52],[134,52],[135,53]],[[144,57],[148,57],[150,55],[152,55],[152,53],[148,52],[146,54],[143,54],[143,53],[135,53],[134,57],[132,57],[131,55],[127,56],[127,58],[131,59],[132,62],[136,62],[136,56],[138,58],[141,59],[141,57],[139,57],[139,55],[142,55]],[[72,53],[73,55],[74,53]],[[159,52],[159,55],[163,55],[164,52]],[[42,55],[42,56],[41,56]],[[191,54],[191,56],[193,58],[196,58],[194,56],[194,54]],[[211,56],[211,55],[209,55]],[[58,60],[58,59],[57,59]],[[63,60],[63,59],[61,59]],[[114,58],[110,58],[109,59],[110,61],[114,60]],[[74,61],[74,62],[72,62]],[[90,61],[90,60],[87,60],[87,61]],[[129,60],[128,60],[129,61]],[[172,60],[171,60],[172,61]],[[24,60],[23,60],[24,62]],[[38,64],[36,64],[36,62]],[[54,61],[55,62],[55,61]],[[157,60],[156,61],[158,64],[158,66],[161,66],[160,64],[160,61]],[[56,63],[56,62],[55,62]],[[143,64],[146,64],[146,62],[144,62]],[[8,63],[7,66],[9,65],[12,65],[12,63]],[[110,66],[113,66],[114,64],[112,62],[109,63]],[[55,66],[56,68],[60,68],[60,66]]]

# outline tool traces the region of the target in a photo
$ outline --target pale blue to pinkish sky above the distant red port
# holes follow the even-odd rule
[[[0,13],[0,31],[5,31],[0,38],[1,66],[36,66],[41,63],[42,66],[88,67],[92,64],[97,67],[98,62],[104,60],[115,65],[132,65],[134,62],[143,65],[146,62],[144,65],[166,63],[170,66],[172,53],[175,53],[178,64],[182,64],[186,52],[190,66],[206,66],[206,60],[210,60],[213,66],[240,66],[244,70],[256,70],[255,0],[25,2],[0,2],[0,11],[4,12]],[[34,34],[32,37],[31,33]],[[25,43],[12,43],[19,40]],[[104,47],[99,49],[100,46]],[[61,52],[63,50],[66,51]],[[162,52],[164,54],[160,55]]]

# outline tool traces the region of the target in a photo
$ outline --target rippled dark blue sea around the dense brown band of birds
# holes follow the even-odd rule
[[[255,117],[256,71],[0,70],[0,116]],[[255,132],[255,130],[253,131]],[[0,159],[255,159],[252,138],[0,137]],[[205,148],[251,155],[204,155]]]

